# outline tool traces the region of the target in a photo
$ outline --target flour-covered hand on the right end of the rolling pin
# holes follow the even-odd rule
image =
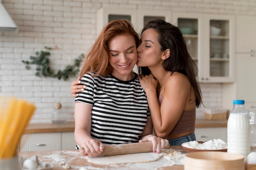
[[[146,135],[139,142],[152,142],[153,152],[160,153],[164,148],[169,148],[170,144],[167,139],[155,135]]]

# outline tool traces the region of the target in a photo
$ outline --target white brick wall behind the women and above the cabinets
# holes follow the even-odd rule
[[[93,3],[92,3],[93,2]],[[96,38],[96,13],[101,7],[171,10],[173,12],[256,15],[255,0],[2,0],[19,31],[0,32],[0,94],[34,102],[37,110],[31,123],[50,122],[55,102],[65,112],[74,112],[71,82],[39,78],[35,70],[25,70],[21,60],[29,60],[44,46],[51,51],[54,70],[63,70]],[[72,64],[72,63],[71,63]],[[79,75],[77,75],[78,77]],[[206,107],[222,107],[222,84],[201,84]],[[200,111],[201,109],[198,109]]]

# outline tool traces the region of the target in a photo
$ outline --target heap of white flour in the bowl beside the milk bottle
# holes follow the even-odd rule
[[[191,149],[207,149],[207,150],[220,150],[220,149],[227,149],[227,143],[224,142],[222,139],[213,139],[202,144],[198,143],[197,141],[190,141],[182,144],[182,146]]]

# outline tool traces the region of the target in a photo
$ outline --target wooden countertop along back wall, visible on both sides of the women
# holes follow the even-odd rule
[[[207,127],[227,127],[227,120],[195,120],[195,128]],[[27,126],[24,133],[74,132],[74,130],[75,122],[66,122],[64,124],[31,123]]]

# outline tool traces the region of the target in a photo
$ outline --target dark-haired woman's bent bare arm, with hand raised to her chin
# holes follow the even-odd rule
[[[185,109],[191,84],[184,74],[174,73],[168,78],[162,92],[163,101],[159,106],[156,80],[152,75],[140,78],[141,86],[146,92],[150,114],[158,137],[171,133]]]

